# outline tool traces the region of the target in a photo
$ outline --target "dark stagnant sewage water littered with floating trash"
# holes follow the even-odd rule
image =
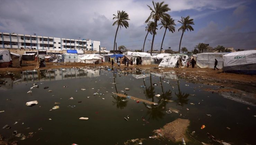
[[[188,131],[195,131],[193,137],[200,142],[218,144],[208,138],[207,133],[210,133],[228,143],[255,144],[254,105],[203,91],[204,88],[216,86],[186,83],[174,74],[122,72],[116,68],[68,68],[65,71],[28,70],[14,76],[2,76],[1,80],[6,83],[0,84],[0,111],[4,110],[0,113],[0,127],[9,125],[11,128],[0,129],[0,134],[17,140],[20,145],[113,145],[124,144],[135,138],[145,138],[143,144],[147,145],[179,144],[149,138],[154,135],[153,130],[177,118],[190,120]],[[39,88],[31,89],[32,93],[28,94],[35,83]],[[94,93],[98,95],[93,95]],[[149,109],[144,103],[117,97],[113,93],[146,99],[158,105],[147,104],[152,107]],[[155,97],[157,94],[161,96]],[[70,97],[74,99],[69,99]],[[26,106],[26,102],[33,100],[37,100],[38,104]],[[58,104],[60,108],[52,110],[56,106],[55,102],[61,103]],[[170,107],[180,113],[166,113]],[[211,114],[211,117],[205,114]],[[127,116],[128,121],[124,119]],[[79,120],[80,117],[89,119]],[[142,117],[149,123],[143,121]],[[206,127],[201,129],[202,125]],[[13,131],[25,136],[34,132],[34,136],[20,140],[20,137],[12,135]],[[201,143],[191,139],[189,144]]]

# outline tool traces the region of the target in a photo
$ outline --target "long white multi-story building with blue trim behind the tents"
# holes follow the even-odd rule
[[[45,37],[37,35],[25,35],[16,33],[0,32],[0,48],[19,48],[19,49],[82,49],[99,51],[100,41],[89,39],[66,39],[56,37]]]

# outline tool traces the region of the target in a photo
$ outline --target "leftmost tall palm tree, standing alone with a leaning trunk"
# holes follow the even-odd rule
[[[129,23],[127,21],[127,20],[130,20],[128,13],[126,13],[125,11],[122,10],[122,11],[117,11],[117,16],[115,14],[113,14],[113,16],[115,16],[115,17],[113,17],[113,20],[114,19],[117,19],[117,20],[113,23],[112,26],[117,25],[117,30],[119,27],[120,27],[120,29],[121,29],[121,27],[125,27],[125,28],[129,27]],[[114,53],[115,53],[116,38],[117,38],[117,31],[116,31],[116,36],[115,36],[115,40],[114,40]]]

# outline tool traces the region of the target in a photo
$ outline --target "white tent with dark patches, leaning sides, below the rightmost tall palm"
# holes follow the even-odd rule
[[[171,67],[174,68],[177,64],[177,60],[179,60],[180,66],[182,66],[181,63],[181,56],[176,55],[176,56],[165,56],[161,63],[158,65],[158,67]]]

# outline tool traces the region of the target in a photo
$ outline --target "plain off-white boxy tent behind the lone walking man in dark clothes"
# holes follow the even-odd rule
[[[214,68],[215,59],[218,60],[217,68],[223,68],[222,56],[228,54],[228,52],[206,52],[196,54],[196,64],[200,68]]]

